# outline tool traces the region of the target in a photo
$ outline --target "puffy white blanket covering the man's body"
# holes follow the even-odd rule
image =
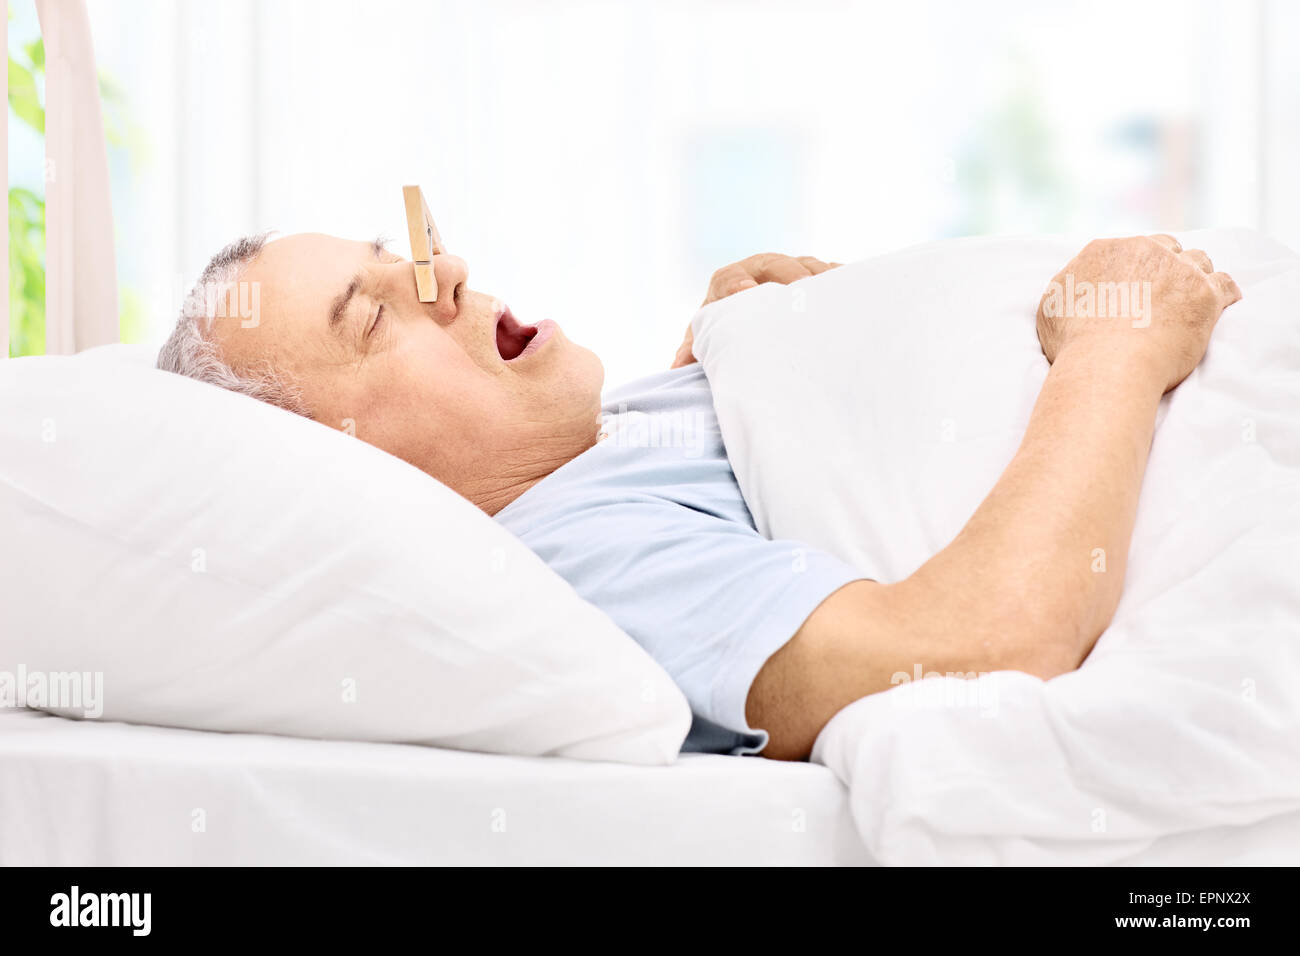
[[[1161,405],[1092,656],[1046,683],[906,680],[818,740],[884,862],[1108,862],[1300,808],[1300,258],[1244,230],[1179,238],[1244,299]],[[1023,434],[1048,371],[1037,300],[1082,246],[932,243],[702,310],[759,529],[885,581],[946,545]]]

